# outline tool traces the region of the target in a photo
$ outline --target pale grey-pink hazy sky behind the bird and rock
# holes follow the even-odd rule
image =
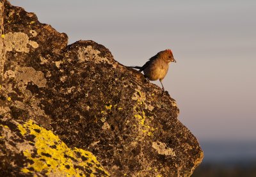
[[[200,141],[256,141],[256,1],[12,0],[126,66],[172,49],[164,88]],[[161,87],[159,81],[154,82]]]

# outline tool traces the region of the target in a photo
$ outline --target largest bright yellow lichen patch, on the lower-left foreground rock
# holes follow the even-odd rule
[[[102,171],[109,176],[96,157],[89,151],[75,148],[71,150],[67,145],[60,140],[58,135],[54,135],[51,131],[45,130],[33,121],[29,120],[24,125],[18,125],[22,135],[29,134],[35,136],[35,148],[37,155],[32,155],[33,151],[25,150],[23,154],[29,160],[32,160],[32,164],[22,169],[22,172],[29,173],[31,169],[41,172],[46,171],[46,175],[56,176],[79,176],[83,174],[77,166],[82,169],[90,169],[93,173]]]

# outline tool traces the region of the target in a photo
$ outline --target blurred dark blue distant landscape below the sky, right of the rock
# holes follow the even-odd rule
[[[256,141],[200,142],[204,160],[193,177],[256,176]]]

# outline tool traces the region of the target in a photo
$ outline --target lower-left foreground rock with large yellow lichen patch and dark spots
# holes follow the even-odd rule
[[[92,153],[70,150],[58,136],[31,120],[4,124],[0,125],[1,176],[109,176]]]

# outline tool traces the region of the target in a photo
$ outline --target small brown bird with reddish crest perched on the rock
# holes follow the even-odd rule
[[[156,81],[159,79],[164,93],[162,81],[168,72],[171,62],[176,63],[176,60],[173,58],[172,50],[166,49],[158,52],[155,56],[152,56],[152,58],[148,59],[147,63],[145,63],[143,66],[130,67],[138,69],[139,72],[143,71],[145,77],[150,81]]]

